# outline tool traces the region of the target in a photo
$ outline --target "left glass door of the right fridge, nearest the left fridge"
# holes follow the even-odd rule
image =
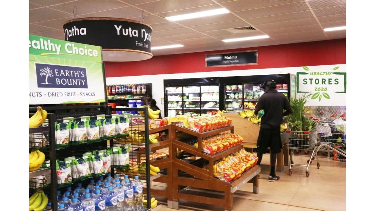
[[[225,86],[225,110],[242,110],[242,98],[242,84],[229,84]]]

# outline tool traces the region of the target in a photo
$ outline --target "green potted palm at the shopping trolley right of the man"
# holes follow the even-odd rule
[[[311,93],[303,94],[290,100],[290,106],[293,112],[287,116],[290,130],[290,144],[297,148],[309,147],[309,133],[315,128],[315,122],[307,117],[308,108],[305,106],[307,99],[312,96]]]

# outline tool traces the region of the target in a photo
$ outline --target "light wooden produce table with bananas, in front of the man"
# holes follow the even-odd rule
[[[243,147],[245,148],[257,148],[257,141],[260,127],[252,122],[249,122],[247,118],[242,118],[236,113],[223,113],[223,116],[226,116],[232,120],[232,125],[236,128],[236,134],[243,137]],[[276,158],[276,171],[281,172],[284,170],[284,166],[288,166],[288,150],[286,147],[287,138],[284,135],[281,135],[283,150],[278,153]],[[252,150],[251,150],[252,152]],[[285,154],[285,155],[284,155]],[[271,154],[270,154],[271,156]],[[271,157],[270,157],[271,158]],[[270,159],[271,162],[271,159]]]

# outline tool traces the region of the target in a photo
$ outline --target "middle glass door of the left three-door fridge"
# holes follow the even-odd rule
[[[190,116],[201,115],[201,91],[199,86],[184,86],[183,87],[183,113],[190,114]]]

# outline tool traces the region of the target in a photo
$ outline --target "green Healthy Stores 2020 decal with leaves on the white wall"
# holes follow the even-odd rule
[[[310,71],[307,66],[302,67],[305,71]],[[297,72],[297,93],[313,93],[311,99],[330,99],[329,93],[347,92],[347,73],[333,72],[339,69],[338,66],[332,71],[310,71]],[[300,86],[302,85],[303,86]],[[303,90],[301,90],[303,89]]]

